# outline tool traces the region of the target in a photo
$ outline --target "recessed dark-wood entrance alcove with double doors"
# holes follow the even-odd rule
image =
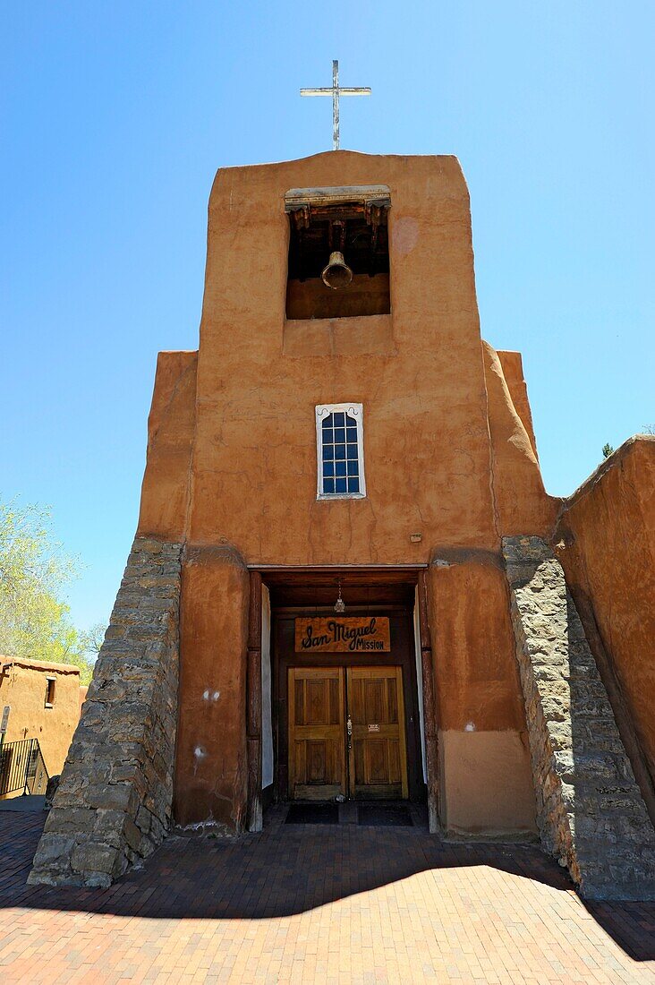
[[[425,802],[418,570],[258,573],[263,808],[294,800]],[[337,617],[339,581],[347,609]],[[388,621],[388,645],[374,652],[301,652],[296,621],[306,627],[344,618]],[[371,715],[375,721],[368,722]]]

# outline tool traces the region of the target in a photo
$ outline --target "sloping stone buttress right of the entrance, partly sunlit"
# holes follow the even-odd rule
[[[545,849],[591,899],[655,898],[655,831],[566,588],[538,537],[503,539]]]

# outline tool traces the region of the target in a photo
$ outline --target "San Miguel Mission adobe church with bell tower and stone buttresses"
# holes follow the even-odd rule
[[[521,357],[481,339],[455,158],[219,171],[199,349],[158,360],[31,880],[108,885],[172,823],[400,800],[446,836],[539,832],[587,895],[643,897],[653,451],[545,492]],[[642,547],[609,594],[619,522]]]

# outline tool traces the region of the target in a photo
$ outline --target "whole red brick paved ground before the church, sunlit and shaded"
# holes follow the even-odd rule
[[[0,982],[655,983],[655,905],[585,906],[537,848],[281,825],[169,838],[103,890],[27,887],[0,814]]]

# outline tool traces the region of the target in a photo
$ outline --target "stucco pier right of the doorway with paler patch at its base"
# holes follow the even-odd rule
[[[428,587],[441,822],[457,833],[534,831],[530,754],[500,557],[437,551]]]

